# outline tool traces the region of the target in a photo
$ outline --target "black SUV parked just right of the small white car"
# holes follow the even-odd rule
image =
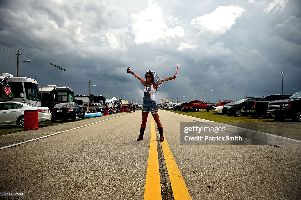
[[[241,106],[243,103],[245,104],[250,104],[251,102],[255,102],[255,101],[265,101],[265,97],[264,96],[259,96],[259,97],[247,97],[244,99],[240,99],[237,102],[231,102],[228,103],[226,105],[223,106],[222,109],[222,114],[225,114],[227,116],[236,116],[236,117],[240,117],[242,112],[241,112]]]

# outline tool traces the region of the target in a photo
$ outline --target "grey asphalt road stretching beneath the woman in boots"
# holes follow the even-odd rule
[[[158,141],[157,129],[152,129],[151,115],[144,140],[136,141],[141,111],[0,136],[0,191],[25,192],[15,199],[143,199],[147,171],[155,169],[148,165],[150,144],[157,144],[163,199],[178,198],[167,159],[175,161],[172,167],[180,172],[176,177],[182,178],[188,198],[301,198],[300,141],[261,137],[262,133],[227,125],[227,134],[241,136],[244,145],[180,144],[181,122],[223,125],[162,110],[159,115],[165,147]],[[151,130],[156,130],[157,141],[151,140]],[[50,134],[55,135],[5,148]],[[248,141],[257,145],[246,145]],[[166,154],[166,144],[172,156]]]

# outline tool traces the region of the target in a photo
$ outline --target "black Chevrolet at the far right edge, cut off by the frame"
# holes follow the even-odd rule
[[[275,121],[293,119],[293,121],[301,122],[301,91],[288,99],[269,102],[267,113]]]

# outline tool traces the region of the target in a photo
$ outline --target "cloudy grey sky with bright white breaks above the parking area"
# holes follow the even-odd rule
[[[293,94],[301,90],[300,11],[299,0],[3,0],[0,72],[16,76],[20,48],[20,61],[31,60],[20,76],[76,95],[88,95],[91,80],[91,94],[142,101],[127,66],[161,78],[179,67],[157,100],[240,99],[246,80],[247,96],[281,94],[280,71]]]

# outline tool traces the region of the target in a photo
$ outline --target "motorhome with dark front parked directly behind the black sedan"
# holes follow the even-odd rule
[[[69,86],[48,85],[39,87],[42,106],[53,108],[58,103],[75,102],[74,91]]]

